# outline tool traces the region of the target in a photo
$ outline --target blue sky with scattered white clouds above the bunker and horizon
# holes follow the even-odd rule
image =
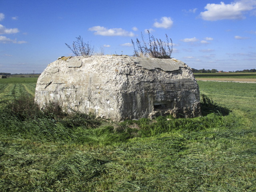
[[[41,73],[76,37],[105,54],[133,54],[131,39],[173,41],[191,68],[256,68],[256,0],[1,0],[0,72]]]

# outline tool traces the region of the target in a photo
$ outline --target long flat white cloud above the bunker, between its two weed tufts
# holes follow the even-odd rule
[[[133,32],[128,32],[122,28],[112,28],[107,29],[102,26],[94,26],[89,28],[89,31],[95,31],[95,35],[102,35],[102,36],[129,36],[133,37],[135,34]]]

